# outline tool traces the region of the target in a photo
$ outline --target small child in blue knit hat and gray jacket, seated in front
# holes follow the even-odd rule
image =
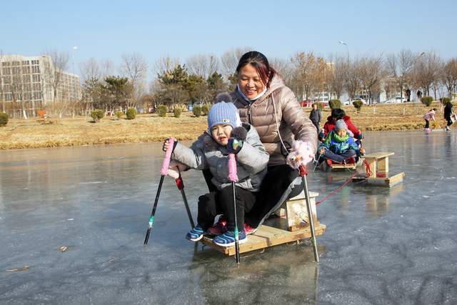
[[[177,143],[177,142],[176,142]],[[168,139],[164,142],[168,149]],[[229,154],[236,154],[236,216],[233,210],[233,188],[229,180]],[[239,243],[247,241],[244,231],[244,213],[256,202],[256,191],[266,174],[269,156],[260,141],[256,129],[242,124],[236,106],[221,101],[211,107],[208,114],[208,131],[199,136],[191,148],[177,143],[174,159],[192,169],[209,169],[213,174],[212,184],[217,191],[199,197],[197,225],[189,231],[186,239],[199,241],[206,230],[214,224],[214,218],[224,214],[227,230],[216,236],[214,243],[219,246],[235,244],[235,221],[238,226]]]

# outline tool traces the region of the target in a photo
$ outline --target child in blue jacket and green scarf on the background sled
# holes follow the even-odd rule
[[[348,135],[347,128],[343,119],[336,121],[335,128],[330,131],[318,148],[320,156],[338,163],[346,163],[355,156],[365,154],[365,149],[359,149],[354,138]]]

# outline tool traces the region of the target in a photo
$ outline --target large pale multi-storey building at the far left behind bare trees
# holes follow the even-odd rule
[[[53,84],[58,84],[56,99]],[[0,111],[10,116],[21,116],[24,111],[33,115],[54,101],[76,103],[79,99],[79,76],[56,71],[51,56],[0,54]]]

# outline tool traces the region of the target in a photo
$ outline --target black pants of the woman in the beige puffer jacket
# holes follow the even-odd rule
[[[245,221],[253,228],[258,227],[263,219],[270,216],[283,202],[279,202],[284,191],[293,180],[298,177],[298,170],[292,169],[287,164],[269,166],[266,176],[262,181],[260,191],[257,193],[256,204],[251,211],[246,213]],[[295,186],[288,198],[297,196],[303,187]]]

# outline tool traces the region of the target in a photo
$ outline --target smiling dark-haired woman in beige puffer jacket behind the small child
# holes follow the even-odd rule
[[[266,56],[249,51],[241,56],[236,73],[238,84],[230,93],[231,101],[238,108],[241,121],[256,128],[270,154],[256,204],[245,215],[249,234],[283,201],[301,192],[301,184],[295,185],[293,181],[298,177],[298,166],[307,164],[316,154],[317,133],[291,89],[269,66]]]

